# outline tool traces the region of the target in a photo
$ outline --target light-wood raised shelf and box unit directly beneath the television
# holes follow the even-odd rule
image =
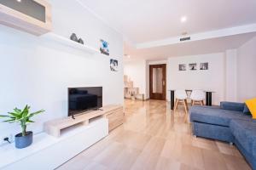
[[[113,128],[118,127],[124,122],[124,111],[122,105],[106,105],[97,111],[84,112],[84,114],[77,116],[69,116],[61,119],[55,119],[44,123],[44,131],[49,135],[55,136],[56,138],[61,137],[61,131],[75,125],[82,124],[88,125],[90,120],[96,117],[105,117],[108,119],[108,130],[111,131]]]

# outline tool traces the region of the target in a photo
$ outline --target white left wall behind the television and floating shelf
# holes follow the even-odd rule
[[[46,112],[28,127],[41,132],[43,123],[67,116],[68,87],[103,87],[103,105],[123,103],[123,39],[102,20],[73,0],[51,0],[54,32],[69,37],[76,32],[84,43],[100,47],[109,42],[110,57],[86,54],[57,42],[0,26],[0,113],[28,104]],[[119,71],[109,69],[109,59],[119,60]],[[18,124],[0,123],[1,136],[20,132]]]

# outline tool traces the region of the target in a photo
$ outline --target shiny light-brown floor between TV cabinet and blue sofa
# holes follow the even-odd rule
[[[236,146],[195,138],[182,108],[165,101],[125,100],[125,124],[58,170],[237,169],[247,162]]]

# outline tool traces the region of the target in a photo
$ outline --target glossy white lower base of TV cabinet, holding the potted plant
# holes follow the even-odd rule
[[[47,133],[34,136],[33,144],[15,149],[15,144],[0,148],[0,169],[52,170],[108,135],[108,119],[99,117],[88,125],[79,124],[55,138]]]

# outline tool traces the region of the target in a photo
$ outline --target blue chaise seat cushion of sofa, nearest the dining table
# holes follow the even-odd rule
[[[191,122],[205,122],[225,127],[230,126],[232,119],[251,119],[251,116],[246,116],[241,111],[223,110],[218,107],[193,106],[190,108],[189,114]]]

